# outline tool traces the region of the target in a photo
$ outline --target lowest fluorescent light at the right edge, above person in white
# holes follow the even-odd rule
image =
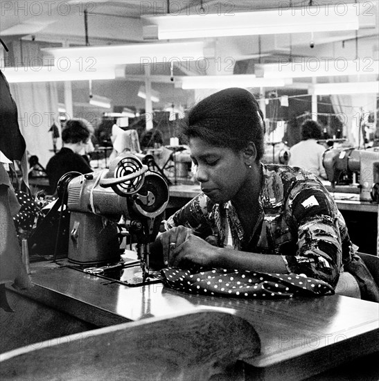
[[[310,86],[308,93],[314,95],[379,93],[379,82],[317,83]]]

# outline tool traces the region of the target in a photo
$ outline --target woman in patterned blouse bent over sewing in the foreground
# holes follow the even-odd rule
[[[261,163],[265,124],[249,91],[225,89],[201,100],[184,119],[181,132],[188,140],[202,193],[168,218],[169,230],[153,245],[150,263],[159,258],[160,265],[179,269],[200,266],[270,273],[267,276],[297,274],[296,278],[310,277],[308,282],[324,281],[332,292],[353,256],[355,270],[364,266],[340,211],[317,176],[302,168]],[[166,270],[170,278],[175,277],[171,269],[162,272]],[[200,274],[191,279],[202,281]],[[211,283],[215,275],[205,281]],[[353,294],[359,296],[359,281],[351,274],[347,278]],[[182,278],[182,285],[191,279]],[[220,278],[222,285],[212,287],[227,290],[229,283],[224,281]],[[364,287],[362,299],[367,297]],[[379,296],[377,289],[373,293],[372,299]]]

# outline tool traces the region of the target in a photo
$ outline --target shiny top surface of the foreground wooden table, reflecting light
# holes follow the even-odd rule
[[[347,296],[271,301],[191,295],[161,283],[127,287],[50,262],[33,264],[31,276],[37,285],[34,289],[69,296],[80,303],[83,314],[90,307],[118,315],[125,321],[204,307],[237,314],[249,321],[261,338],[261,355],[249,361],[258,367],[290,360],[344,340],[347,343],[362,335],[378,337],[379,334],[379,304]],[[377,339],[376,343],[369,344],[374,346],[369,348],[371,352],[379,351]]]

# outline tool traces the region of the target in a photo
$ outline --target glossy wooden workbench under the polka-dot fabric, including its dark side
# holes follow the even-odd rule
[[[33,264],[31,276],[35,286],[21,296],[90,326],[202,308],[233,312],[261,339],[261,354],[245,361],[249,380],[303,380],[379,351],[378,304],[346,296],[271,301],[191,295],[161,283],[127,287],[49,262]]]

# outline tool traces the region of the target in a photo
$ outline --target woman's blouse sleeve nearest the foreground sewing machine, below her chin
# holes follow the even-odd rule
[[[209,215],[212,208],[211,200],[204,193],[200,193],[168,218],[168,227],[182,225],[193,229],[199,236],[206,236],[211,233]]]

